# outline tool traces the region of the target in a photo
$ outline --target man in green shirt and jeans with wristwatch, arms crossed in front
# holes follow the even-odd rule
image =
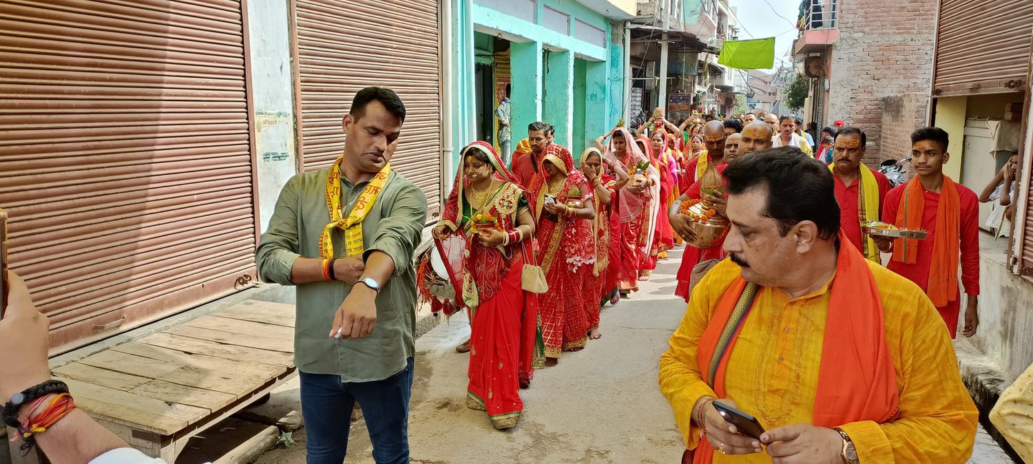
[[[344,461],[355,401],[377,463],[408,463],[415,351],[413,254],[427,197],[390,169],[405,105],[361,90],[344,154],[283,187],[256,252],[263,281],[296,285],[294,362],[309,464]]]

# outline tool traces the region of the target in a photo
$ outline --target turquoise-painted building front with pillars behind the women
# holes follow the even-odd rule
[[[512,81],[512,145],[527,136],[527,125],[543,120],[557,127],[556,142],[569,148],[574,155],[591,141],[614,126],[624,109],[623,43],[613,43],[611,19],[572,0],[542,0],[537,18],[542,18],[545,5],[570,14],[571,30],[567,34],[553,31],[500,12],[473,0],[452,2],[452,163],[455,175],[459,152],[475,136],[474,101],[474,31],[487,36],[501,34],[510,44],[510,79]],[[599,47],[572,36],[575,20],[603,31],[605,47]],[[539,20],[540,21],[540,20]],[[618,23],[620,24],[620,23]],[[478,38],[483,40],[480,34]],[[543,52],[549,50],[547,62]],[[584,88],[575,89],[575,63],[584,61]],[[581,70],[581,67],[577,68]],[[547,73],[546,73],[547,70]],[[580,75],[580,74],[578,74]],[[578,84],[581,84],[578,82]],[[547,100],[543,101],[543,94]],[[583,115],[582,118],[578,115]]]

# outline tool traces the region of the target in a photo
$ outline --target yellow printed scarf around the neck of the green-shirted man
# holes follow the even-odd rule
[[[334,242],[331,239],[331,230],[335,228],[344,229],[344,244],[346,256],[356,256],[366,250],[363,245],[363,220],[373,209],[380,192],[387,185],[387,178],[390,176],[390,163],[384,164],[376,176],[366,184],[366,188],[358,195],[355,207],[344,217],[341,209],[341,161],[344,156],[337,158],[330,166],[326,175],[326,208],[330,210],[330,223],[323,227],[322,236],[319,237],[319,254],[323,259],[334,257]]]

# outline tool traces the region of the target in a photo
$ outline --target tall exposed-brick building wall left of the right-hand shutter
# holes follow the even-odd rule
[[[842,119],[865,130],[868,152],[865,163],[899,158],[900,134],[881,127],[883,105],[900,103],[901,121],[921,115],[933,76],[936,0],[840,0],[840,38],[832,53],[828,112],[825,120]],[[905,100],[881,98],[907,95]],[[925,97],[922,97],[925,95]],[[913,100],[912,100],[913,99]],[[910,106],[913,104],[913,107]],[[913,126],[901,127],[908,134]],[[891,141],[883,142],[883,135]],[[910,143],[907,144],[910,150]]]

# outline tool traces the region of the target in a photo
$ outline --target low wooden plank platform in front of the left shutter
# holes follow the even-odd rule
[[[247,301],[56,367],[54,374],[90,416],[173,463],[191,437],[295,374],[293,340],[292,305]]]

